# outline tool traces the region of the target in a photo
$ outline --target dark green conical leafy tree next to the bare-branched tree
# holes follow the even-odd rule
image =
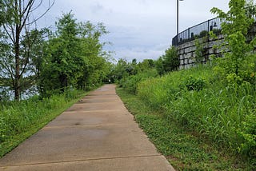
[[[82,50],[78,35],[78,23],[74,14],[63,14],[56,22],[57,30],[45,46],[45,58],[42,64],[40,83],[41,93],[59,89],[62,92],[69,85],[74,85],[81,76],[86,59],[79,52]]]

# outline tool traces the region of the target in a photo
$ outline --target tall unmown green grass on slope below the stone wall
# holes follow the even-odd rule
[[[210,66],[198,66],[138,83],[138,97],[162,109],[169,121],[215,145],[254,158],[256,87],[225,85]],[[254,161],[255,162],[255,161]]]

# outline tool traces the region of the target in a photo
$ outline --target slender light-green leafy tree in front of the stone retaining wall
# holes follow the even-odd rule
[[[230,0],[230,10],[225,13],[213,8],[212,13],[222,19],[222,34],[226,48],[224,57],[217,59],[218,70],[228,82],[242,83],[254,77],[255,55],[251,54],[256,45],[256,39],[248,41],[248,31],[254,23],[253,14],[245,8],[246,0]]]

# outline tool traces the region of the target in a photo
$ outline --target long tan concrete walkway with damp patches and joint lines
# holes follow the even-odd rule
[[[174,169],[138,128],[115,85],[104,85],[2,157],[0,170]]]

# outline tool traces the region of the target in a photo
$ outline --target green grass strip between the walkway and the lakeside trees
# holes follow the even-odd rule
[[[52,121],[65,109],[84,97],[84,91],[74,90],[39,100],[9,101],[0,105],[0,157]]]

